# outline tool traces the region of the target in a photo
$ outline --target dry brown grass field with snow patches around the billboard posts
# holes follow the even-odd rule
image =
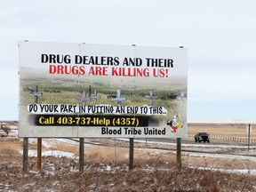
[[[205,128],[188,126],[188,132],[201,132]],[[212,127],[209,132],[221,134],[223,129]],[[240,131],[236,127],[225,128],[227,135],[234,130]],[[51,139],[43,140],[43,166],[38,171],[36,140],[29,139],[29,167],[28,172],[23,172],[22,140],[15,134],[1,138],[0,191],[256,191],[256,161],[246,156],[244,159],[212,157],[207,153],[191,156],[183,152],[180,170],[176,165],[175,144],[138,141],[134,146],[134,168],[129,171],[127,141],[85,139],[85,142],[84,172],[78,170],[78,144]],[[212,151],[211,145],[193,144],[189,148]],[[234,153],[242,147],[216,148],[222,153],[232,149]],[[251,156],[256,156],[255,144]]]

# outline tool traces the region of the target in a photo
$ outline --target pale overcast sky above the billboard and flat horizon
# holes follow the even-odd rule
[[[256,1],[0,1],[0,119],[18,119],[19,41],[188,48],[188,121],[256,119]]]

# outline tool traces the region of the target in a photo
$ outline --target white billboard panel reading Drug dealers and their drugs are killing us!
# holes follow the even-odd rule
[[[187,48],[20,42],[19,137],[187,137]]]

